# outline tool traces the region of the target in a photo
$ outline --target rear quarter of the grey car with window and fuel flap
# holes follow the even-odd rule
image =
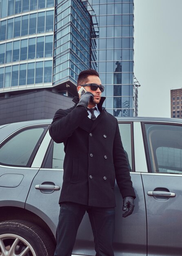
[[[21,127],[20,124],[0,129],[1,135],[6,135],[0,144],[0,207],[24,208],[31,182],[39,169],[30,166],[46,130],[46,125]]]

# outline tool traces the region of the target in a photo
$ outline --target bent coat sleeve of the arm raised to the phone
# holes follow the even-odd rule
[[[78,106],[69,110],[58,110],[55,112],[53,121],[49,128],[49,134],[56,143],[64,142],[70,137],[80,125],[82,119],[89,114],[86,108]]]

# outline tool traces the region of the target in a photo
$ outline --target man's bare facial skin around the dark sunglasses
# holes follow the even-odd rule
[[[90,76],[87,76],[87,79],[88,79],[87,83],[96,83],[98,85],[102,84],[100,81],[100,78],[98,76],[90,75]],[[77,90],[79,91],[80,88],[81,88],[81,86],[78,85]],[[91,90],[90,86],[85,86],[84,89],[87,92],[91,92],[94,95],[93,102],[90,102],[89,106],[88,106],[89,108],[93,108],[93,106],[95,106],[96,104],[98,104],[100,102],[102,92],[100,91],[99,88],[97,88],[96,91],[93,91],[93,90]],[[79,97],[80,97],[80,95],[79,95]]]

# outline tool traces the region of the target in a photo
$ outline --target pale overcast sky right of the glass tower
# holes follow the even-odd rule
[[[171,117],[170,90],[182,88],[182,0],[134,0],[138,116]]]

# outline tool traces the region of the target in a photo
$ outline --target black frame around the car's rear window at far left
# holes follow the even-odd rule
[[[23,132],[24,130],[29,130],[29,129],[35,129],[35,128],[44,128],[44,131],[42,132],[42,135],[38,139],[35,148],[33,149],[33,152],[31,153],[29,160],[26,165],[15,165],[15,164],[4,164],[0,162],[0,166],[12,166],[12,167],[18,167],[18,168],[31,168],[31,165],[33,163],[33,160],[38,152],[38,149],[42,143],[42,140],[44,139],[44,136],[46,135],[48,129],[49,129],[49,124],[38,124],[38,125],[31,125],[31,126],[25,126],[23,128],[20,128],[16,130],[15,132],[11,133],[7,138],[5,138],[1,143],[0,143],[0,148],[2,148],[8,141],[10,141],[13,137],[16,135],[20,134],[20,132]]]

